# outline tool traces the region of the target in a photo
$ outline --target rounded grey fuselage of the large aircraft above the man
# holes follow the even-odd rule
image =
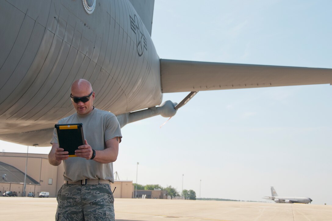
[[[0,18],[1,140],[49,146],[57,120],[75,112],[79,78],[116,115],[161,103],[159,57],[129,1],[98,0],[88,14],[82,1],[8,0]]]

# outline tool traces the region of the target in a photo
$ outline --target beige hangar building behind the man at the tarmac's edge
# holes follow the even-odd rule
[[[28,159],[28,164],[27,164]],[[49,197],[56,197],[63,184],[63,164],[55,167],[48,163],[47,154],[1,153],[0,152],[0,191],[15,191],[23,196],[24,175],[27,164],[26,195],[34,192],[36,197],[42,191]],[[115,188],[116,187],[116,188]],[[118,181],[111,184],[115,198],[132,198],[132,181]]]

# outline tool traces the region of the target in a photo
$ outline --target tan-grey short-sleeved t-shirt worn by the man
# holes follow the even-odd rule
[[[106,148],[105,142],[114,137],[120,137],[121,142],[122,135],[118,118],[108,111],[94,108],[88,114],[80,115],[74,113],[73,115],[62,118],[58,123],[82,123],[84,139],[87,140],[88,144],[94,150],[104,150]],[[52,143],[58,143],[56,129],[53,132]],[[81,157],[69,157],[62,162],[65,181],[76,182],[84,179],[99,178],[114,183],[113,163],[102,164]]]

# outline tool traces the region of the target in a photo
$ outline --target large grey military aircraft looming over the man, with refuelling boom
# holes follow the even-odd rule
[[[54,124],[75,112],[69,95],[79,78],[121,127],[173,116],[198,91],[332,83],[332,69],[160,59],[153,8],[153,0],[0,1],[0,139],[50,146]],[[190,93],[161,105],[171,92]]]

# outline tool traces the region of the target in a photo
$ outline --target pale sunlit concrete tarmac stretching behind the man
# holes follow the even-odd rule
[[[55,198],[0,197],[1,220],[54,220]],[[331,221],[331,205],[115,199],[117,221]]]

